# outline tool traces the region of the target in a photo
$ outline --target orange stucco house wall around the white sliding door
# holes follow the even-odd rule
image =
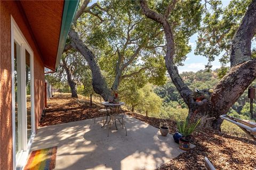
[[[12,169],[11,15],[34,51],[36,129],[44,108],[44,65],[19,5],[0,1],[0,169]]]

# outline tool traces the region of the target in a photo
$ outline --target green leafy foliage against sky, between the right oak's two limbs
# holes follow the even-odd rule
[[[211,62],[219,55],[222,56],[220,63],[223,68],[229,63],[231,40],[250,2],[251,0],[233,0],[226,7],[222,6],[221,1],[205,3],[195,54],[208,58],[207,68],[211,68]]]

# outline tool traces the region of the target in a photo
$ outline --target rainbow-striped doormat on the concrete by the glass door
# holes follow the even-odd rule
[[[50,170],[55,168],[57,147],[34,150],[24,170]]]

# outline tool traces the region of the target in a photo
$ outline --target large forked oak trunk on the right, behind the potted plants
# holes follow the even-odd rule
[[[162,15],[151,10],[146,1],[140,1],[142,12],[150,19],[162,24],[166,38],[165,65],[172,82],[181,97],[188,105],[190,121],[202,118],[202,125],[220,130],[222,123],[219,117],[227,114],[229,108],[243,94],[256,78],[256,60],[251,58],[251,39],[256,29],[256,1],[252,1],[242,20],[240,27],[232,40],[230,62],[233,68],[214,87],[210,98],[196,101],[194,93],[181,79],[177,67],[174,65],[174,39],[171,24],[167,20],[170,8]],[[170,5],[169,5],[170,6]]]

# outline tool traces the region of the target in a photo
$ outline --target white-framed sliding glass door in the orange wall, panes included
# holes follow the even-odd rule
[[[12,27],[13,167],[22,168],[35,135],[34,60],[18,26]]]

